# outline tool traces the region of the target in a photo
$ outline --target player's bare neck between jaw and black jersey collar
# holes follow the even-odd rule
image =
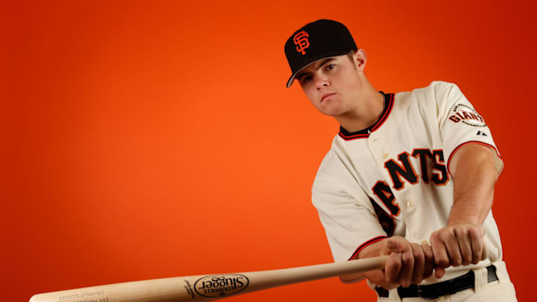
[[[339,124],[348,132],[366,129],[380,119],[384,110],[384,96],[369,86],[365,93],[356,101],[356,107],[346,114],[336,116]]]

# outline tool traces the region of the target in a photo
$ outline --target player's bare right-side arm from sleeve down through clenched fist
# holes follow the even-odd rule
[[[431,235],[436,266],[476,264],[483,251],[483,222],[491,211],[493,191],[498,179],[496,153],[481,144],[465,144],[449,163],[453,177],[453,208],[448,226]],[[441,278],[443,270],[436,270]]]

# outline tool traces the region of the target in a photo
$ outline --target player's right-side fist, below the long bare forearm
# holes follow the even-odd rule
[[[438,268],[476,264],[483,258],[483,226],[458,223],[431,234],[434,262]],[[442,278],[445,269],[436,269],[436,278]]]

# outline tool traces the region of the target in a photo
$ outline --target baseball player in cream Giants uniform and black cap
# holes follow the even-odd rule
[[[516,301],[491,213],[503,161],[458,87],[376,91],[365,51],[331,20],[295,31],[285,53],[287,87],[341,125],[312,188],[334,260],[389,255],[365,274],[378,301]]]

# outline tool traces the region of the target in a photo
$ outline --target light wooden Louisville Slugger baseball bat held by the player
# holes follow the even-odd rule
[[[52,293],[39,293],[30,302],[182,302],[211,301],[267,288],[384,268],[388,256],[318,264],[272,271],[185,276],[115,283]]]

